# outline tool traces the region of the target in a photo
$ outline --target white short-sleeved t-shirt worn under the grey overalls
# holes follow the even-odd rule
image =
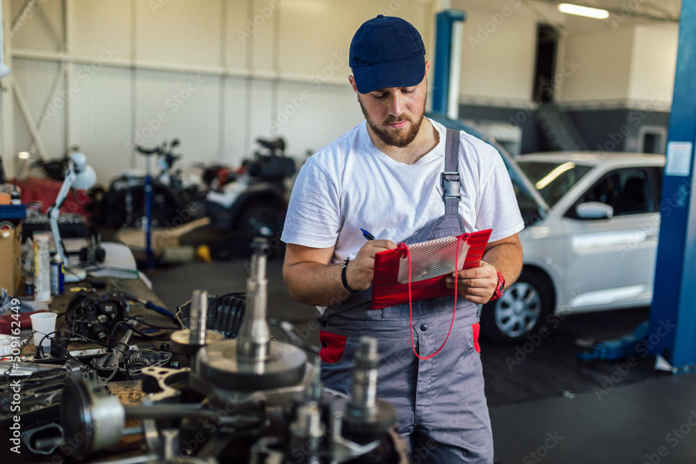
[[[310,157],[295,180],[282,240],[333,250],[333,263],[354,258],[376,239],[400,243],[445,214],[440,175],[445,168],[445,127],[437,146],[404,164],[377,150],[361,122]],[[503,159],[491,145],[459,132],[459,214],[466,232],[493,229],[490,241],[509,237],[524,223]]]

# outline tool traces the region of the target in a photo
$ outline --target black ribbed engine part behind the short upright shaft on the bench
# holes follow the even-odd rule
[[[206,328],[216,330],[225,338],[237,337],[237,331],[244,321],[246,294],[230,293],[208,297]],[[175,323],[180,327],[189,327],[191,301],[177,307]]]

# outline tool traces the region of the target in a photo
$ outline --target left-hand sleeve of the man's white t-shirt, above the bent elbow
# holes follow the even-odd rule
[[[335,245],[341,226],[335,178],[311,157],[304,163],[290,194],[281,240],[312,248]]]

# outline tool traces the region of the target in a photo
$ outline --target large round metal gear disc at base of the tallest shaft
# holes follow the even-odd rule
[[[300,383],[306,373],[304,351],[280,342],[269,346],[264,362],[240,359],[237,340],[203,346],[196,356],[196,372],[203,381],[232,392],[272,390]]]

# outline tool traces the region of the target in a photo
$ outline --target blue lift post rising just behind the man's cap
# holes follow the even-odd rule
[[[433,113],[447,114],[452,59],[452,24],[464,21],[464,11],[445,10],[435,16],[435,69],[433,77]]]

